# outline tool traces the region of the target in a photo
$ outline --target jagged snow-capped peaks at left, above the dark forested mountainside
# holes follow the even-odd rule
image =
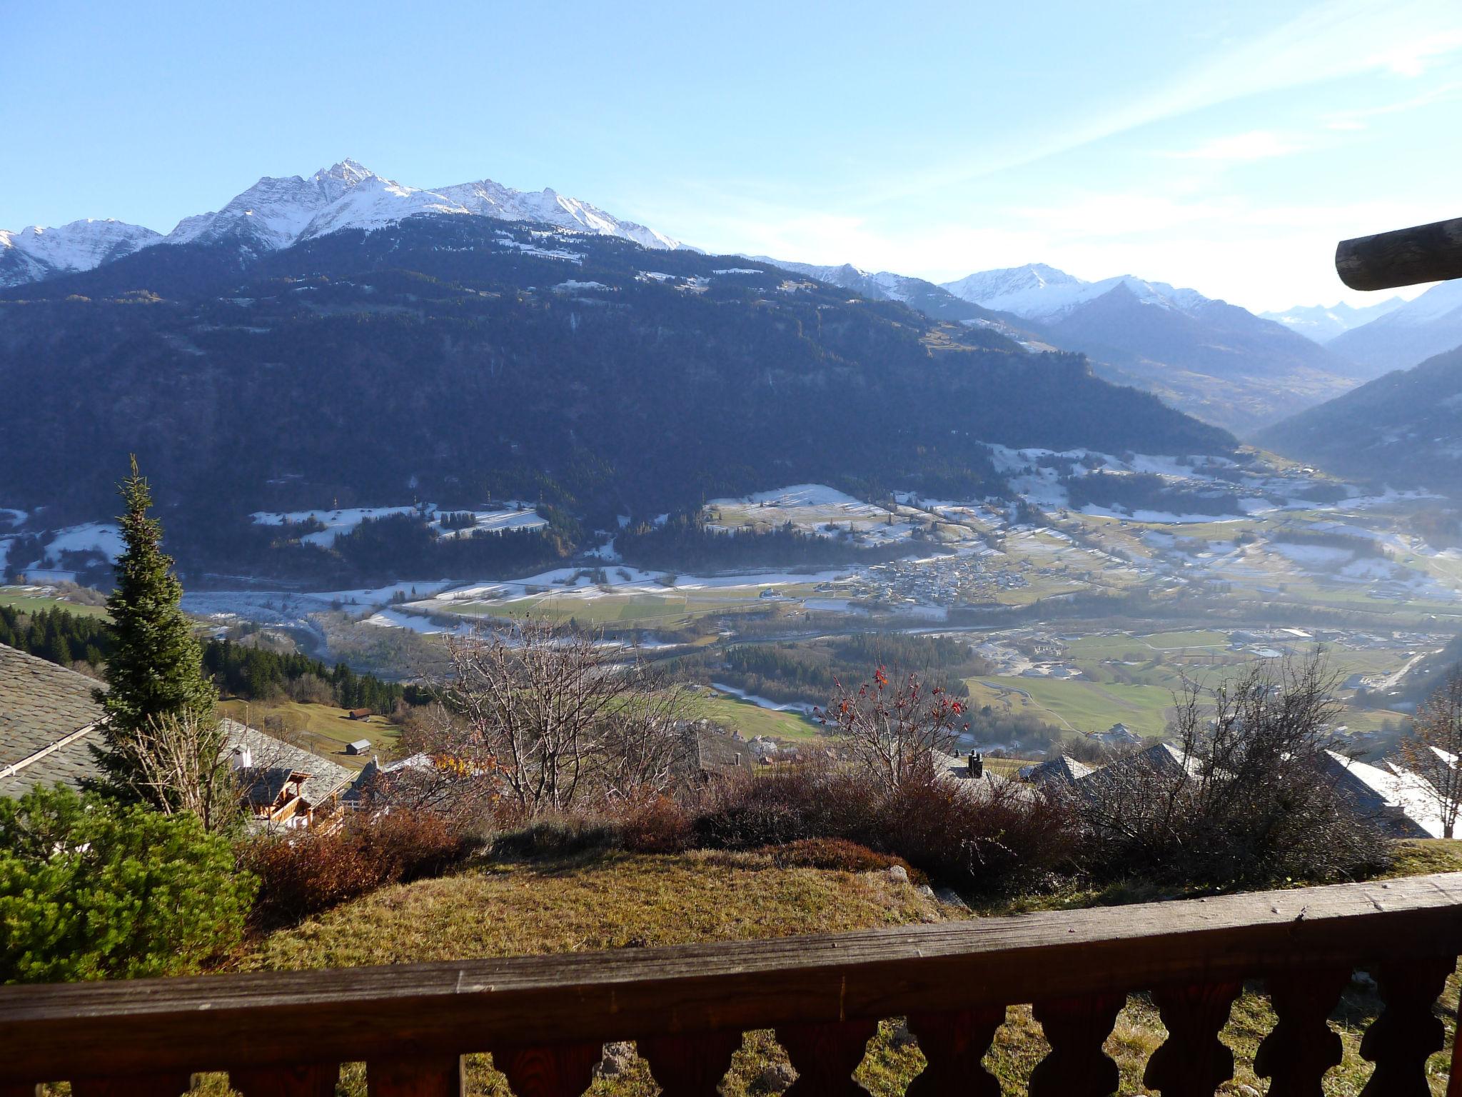
[[[354,159],[344,159],[308,178],[266,176],[216,212],[183,218],[167,235],[120,221],[75,221],[61,228],[0,231],[0,287],[91,271],[151,244],[231,243],[257,255],[346,228],[380,228],[415,214],[529,221],[573,233],[633,240],[643,247],[687,247],[662,233],[621,221],[554,190],[513,190],[490,178],[423,190],[377,176]]]

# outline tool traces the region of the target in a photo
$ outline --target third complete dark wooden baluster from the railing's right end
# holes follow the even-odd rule
[[[1243,983],[1196,983],[1152,992],[1168,1038],[1148,1059],[1142,1084],[1162,1097],[1213,1097],[1234,1077],[1234,1053],[1218,1038]]]

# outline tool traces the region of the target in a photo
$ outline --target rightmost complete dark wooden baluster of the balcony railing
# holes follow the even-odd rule
[[[1361,1097],[1430,1097],[1427,1056],[1446,1043],[1446,1030],[1431,1008],[1453,967],[1453,957],[1380,965],[1376,981],[1386,1008],[1361,1037],[1361,1058],[1376,1063]]]

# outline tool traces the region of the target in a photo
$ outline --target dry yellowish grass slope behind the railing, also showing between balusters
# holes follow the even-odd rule
[[[1462,869],[1462,841],[1404,848],[1398,873]],[[671,945],[864,929],[946,920],[959,916],[923,900],[912,886],[882,873],[849,875],[776,869],[762,854],[690,853],[674,857],[607,856],[577,863],[480,866],[456,876],[387,888],[303,926],[256,943],[246,968],[311,968],[523,952],[577,952],[598,948]],[[1456,979],[1443,1006],[1456,1008]],[[1360,1036],[1379,1008],[1352,984],[1332,1018],[1345,1060],[1326,1078],[1326,1093],[1352,1096],[1368,1077]],[[1224,1041],[1238,1062],[1237,1084],[1263,1091],[1253,1055],[1273,1027],[1268,999],[1247,990],[1234,1005]],[[1449,1021],[1450,1031],[1450,1021]],[[899,1047],[885,1022],[868,1044],[858,1079],[876,1097],[904,1093],[923,1068],[917,1047]],[[1121,1068],[1121,1093],[1142,1093],[1142,1069],[1162,1043],[1161,1018],[1145,995],[1133,995],[1107,1040]],[[1450,1038],[1450,1037],[1449,1037]],[[1028,1006],[1010,1006],[985,1066],[1006,1094],[1025,1093],[1023,1078],[1047,1052]],[[765,1094],[757,1077],[785,1056],[768,1031],[749,1033],[732,1062],[725,1097]],[[1443,1091],[1446,1056],[1433,1056],[1433,1091]],[[364,1093],[358,1065],[344,1074],[345,1093]],[[469,1060],[469,1091],[506,1097],[507,1088],[485,1056]],[[655,1085],[640,1060],[595,1082],[598,1097],[651,1097]],[[1225,1087],[1234,1093],[1234,1087]]]

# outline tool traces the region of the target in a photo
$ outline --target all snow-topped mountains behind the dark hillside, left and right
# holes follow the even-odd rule
[[[519,192],[491,180],[423,190],[345,159],[308,178],[260,178],[216,212],[187,216],[165,235],[118,221],[0,233],[0,288],[115,268],[107,284],[132,279],[133,287],[173,295],[199,278],[211,287],[237,281],[262,256],[341,231],[442,215],[687,250],[664,233],[554,190]],[[143,255],[151,257],[143,262]],[[1240,434],[1462,344],[1456,285],[1437,287],[1409,304],[1254,316],[1196,290],[1133,275],[1089,282],[1044,263],[936,285],[852,265],[759,262],[963,325],[975,342],[1009,339],[1028,351],[1086,353],[1098,374]]]

